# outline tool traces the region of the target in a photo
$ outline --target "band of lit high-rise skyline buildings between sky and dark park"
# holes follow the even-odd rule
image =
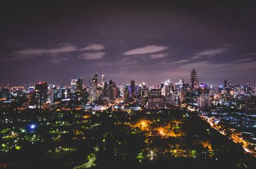
[[[74,107],[108,106],[122,99],[123,104],[138,103],[147,108],[169,108],[179,103],[190,103],[200,109],[207,109],[211,105],[236,103],[237,107],[245,110],[255,110],[256,84],[233,85],[224,80],[223,85],[210,87],[204,82],[198,82],[197,73],[193,69],[189,82],[181,78],[175,83],[166,80],[159,85],[147,86],[144,82],[136,85],[131,80],[131,84],[122,85],[113,80],[106,82],[104,73],[99,80],[95,72],[88,85],[84,85],[83,78],[76,78],[70,81],[70,85],[39,82],[33,86],[26,83],[24,87],[0,88],[0,103],[15,101],[17,97],[26,97],[28,101],[23,107],[28,108],[47,108],[61,102],[70,102]]]

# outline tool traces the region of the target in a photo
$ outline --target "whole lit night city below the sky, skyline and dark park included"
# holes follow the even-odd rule
[[[100,81],[101,80],[101,81]],[[0,168],[255,168],[256,84],[1,85]]]

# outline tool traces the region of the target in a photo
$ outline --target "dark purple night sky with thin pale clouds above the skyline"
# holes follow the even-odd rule
[[[250,1],[1,1],[0,84],[256,82]]]

